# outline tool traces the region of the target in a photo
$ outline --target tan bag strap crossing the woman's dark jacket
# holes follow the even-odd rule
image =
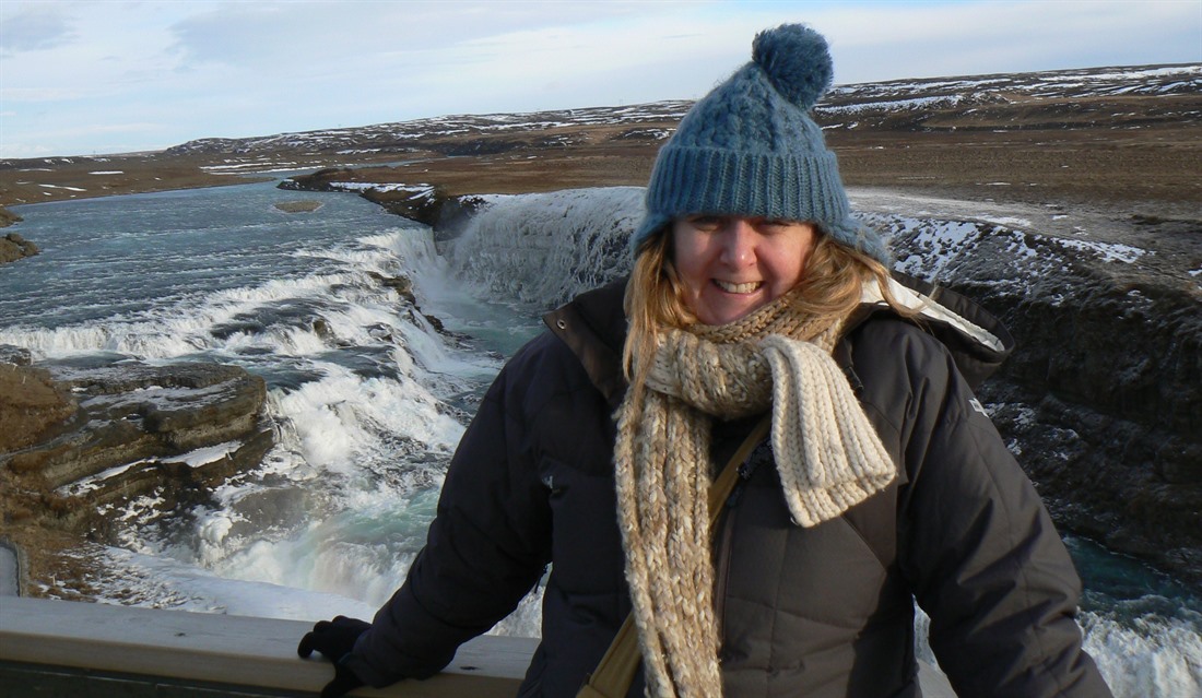
[[[748,434],[743,443],[734,451],[734,455],[727,461],[726,467],[718,473],[718,478],[709,485],[709,529],[714,530],[718,518],[722,514],[722,505],[734,489],[734,483],[739,479],[739,465],[751,455],[751,451],[763,441],[772,426],[772,414],[766,414],[751,432]],[[643,656],[638,649],[638,631],[635,628],[633,614],[626,615],[626,620],[618,628],[613,643],[606,650],[595,672],[589,674],[588,682],[581,686],[576,698],[625,698],[630,691],[630,685],[635,681],[635,673]]]

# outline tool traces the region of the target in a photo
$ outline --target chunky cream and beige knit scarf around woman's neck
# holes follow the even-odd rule
[[[831,358],[838,330],[799,317],[787,296],[732,324],[668,329],[642,400],[627,393],[618,408],[618,514],[648,696],[722,691],[707,512],[714,418],[772,408],[773,458],[802,526],[893,481],[888,453]]]

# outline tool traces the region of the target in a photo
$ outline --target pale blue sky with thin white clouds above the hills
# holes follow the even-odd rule
[[[1202,62],[1202,0],[2,0],[0,157],[696,99],[786,22],[835,84]]]

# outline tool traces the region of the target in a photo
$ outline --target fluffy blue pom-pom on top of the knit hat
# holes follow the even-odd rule
[[[761,31],[751,43],[751,60],[776,91],[807,112],[831,89],[834,64],[826,38],[801,24]]]

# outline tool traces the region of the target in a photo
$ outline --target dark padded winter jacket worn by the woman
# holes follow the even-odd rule
[[[451,463],[426,549],[347,660],[363,679],[438,672],[548,565],[542,643],[520,694],[575,696],[596,667],[630,612],[612,467],[621,293],[609,286],[549,315],[552,333],[498,376]],[[1010,338],[964,299],[940,300],[976,327],[920,329],[865,306],[835,351],[899,466],[886,491],[803,529],[769,445],[750,457],[715,535],[727,696],[918,696],[915,598],[960,696],[1109,694],[1081,650],[1072,562],[964,377],[990,372]],[[981,328],[1000,341],[965,334]],[[752,423],[715,426],[718,463]]]

